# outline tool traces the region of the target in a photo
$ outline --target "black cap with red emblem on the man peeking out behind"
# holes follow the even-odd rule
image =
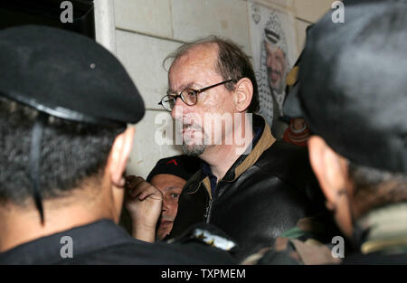
[[[147,176],[147,182],[155,175],[169,174],[178,176],[184,180],[188,180],[201,167],[201,159],[194,156],[171,156],[158,160],[156,166]]]

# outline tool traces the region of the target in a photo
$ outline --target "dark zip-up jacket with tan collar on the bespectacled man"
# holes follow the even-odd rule
[[[253,127],[261,128],[260,139],[216,184],[213,195],[202,170],[185,184],[170,238],[208,222],[238,243],[236,257],[244,259],[273,245],[298,220],[326,212],[307,148],[276,141],[260,116],[253,115]]]

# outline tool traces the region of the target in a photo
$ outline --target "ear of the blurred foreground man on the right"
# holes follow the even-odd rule
[[[345,159],[336,154],[322,137],[308,139],[309,161],[319,185],[327,197],[327,203],[336,205],[339,191],[345,189],[347,178]]]

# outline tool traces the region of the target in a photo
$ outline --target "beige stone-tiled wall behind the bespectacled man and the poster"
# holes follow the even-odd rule
[[[333,0],[259,0],[293,11],[298,50],[305,42],[305,29],[330,8]],[[182,42],[209,34],[231,38],[251,56],[246,0],[114,0],[116,50],[146,103],[146,116],[137,124],[136,141],[128,173],[146,177],[159,158],[181,153],[175,146],[155,142],[157,105],[166,94],[166,71],[162,61]]]

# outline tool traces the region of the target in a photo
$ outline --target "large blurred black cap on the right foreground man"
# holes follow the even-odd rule
[[[308,36],[297,106],[286,109],[356,164],[406,173],[406,3],[348,5],[345,23],[331,14]]]

